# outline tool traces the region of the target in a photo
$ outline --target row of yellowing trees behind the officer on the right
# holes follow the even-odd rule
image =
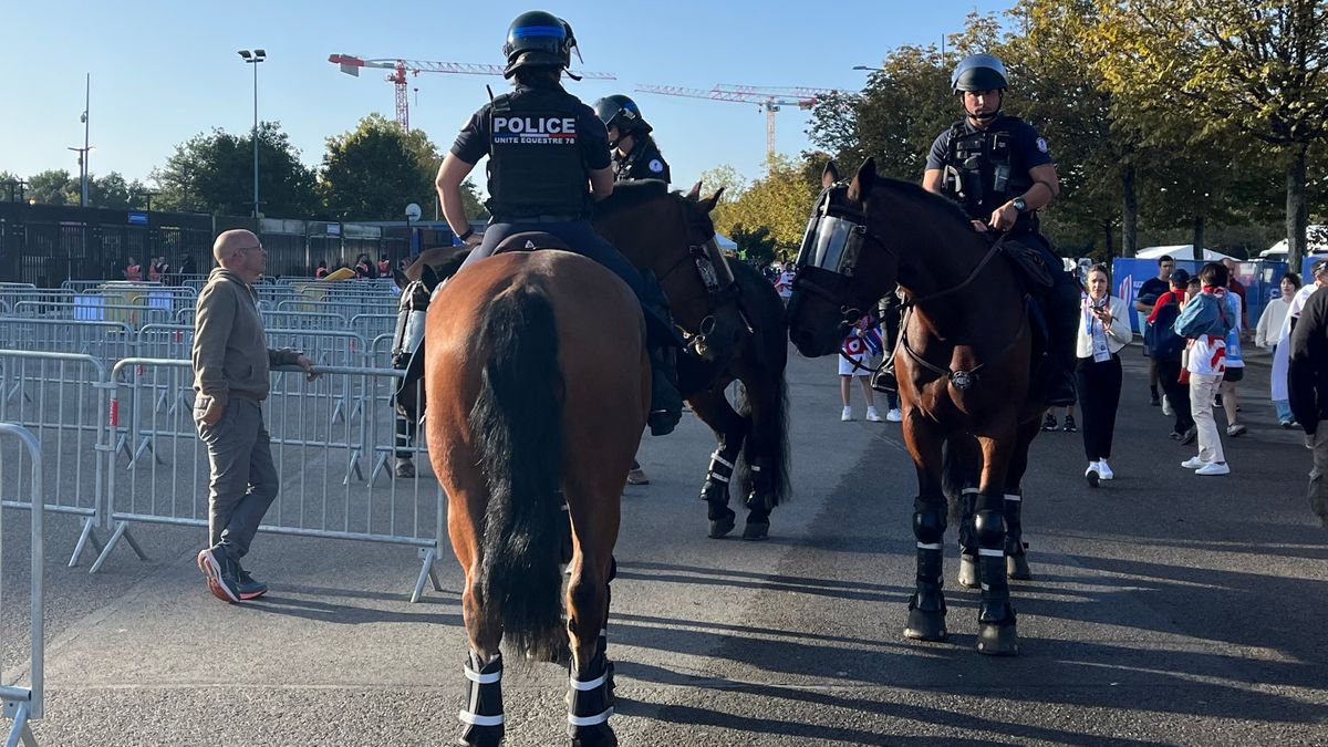
[[[1248,255],[1289,238],[1299,266],[1307,223],[1328,219],[1328,4],[1020,0],[971,15],[940,49],[890,49],[862,90],[819,100],[807,132],[819,152],[750,182],[708,171],[729,187],[718,230],[789,257],[831,157],[920,181],[963,114],[951,72],[976,52],[1004,60],[1004,110],[1050,145],[1062,191],[1044,231],[1062,254],[1133,257],[1146,241]]]

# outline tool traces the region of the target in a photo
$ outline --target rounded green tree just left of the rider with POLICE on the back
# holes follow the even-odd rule
[[[400,221],[406,203],[430,205],[441,157],[422,130],[402,133],[373,113],[329,137],[319,193],[332,218]]]

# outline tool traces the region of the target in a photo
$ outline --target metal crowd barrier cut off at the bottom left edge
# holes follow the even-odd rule
[[[13,723],[9,726],[9,735],[5,746],[23,742],[28,747],[36,747],[37,739],[32,734],[32,723],[42,715],[42,700],[45,694],[45,611],[44,599],[44,556],[42,556],[42,459],[41,444],[37,439],[20,425],[0,423],[0,440],[16,440],[19,453],[16,459],[9,459],[9,449],[0,447],[0,485],[13,486],[15,493],[24,489],[29,492],[27,502],[4,501],[4,506],[19,506],[31,509],[31,560],[29,560],[29,586],[28,586],[28,661],[27,667],[17,667],[11,671],[5,665],[0,647],[0,700],[4,702],[4,715]],[[28,475],[24,476],[24,463],[28,465]],[[17,475],[5,475],[12,469]],[[0,541],[4,537],[4,510],[0,510]],[[0,580],[5,580],[4,573],[5,553],[0,552]],[[4,606],[5,587],[0,581],[0,607]],[[27,677],[24,677],[27,674]],[[27,685],[23,685],[27,679]]]

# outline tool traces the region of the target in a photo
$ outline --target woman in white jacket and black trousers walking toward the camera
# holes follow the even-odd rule
[[[1121,348],[1130,343],[1129,311],[1125,302],[1110,295],[1106,266],[1088,271],[1088,295],[1080,312],[1078,400],[1084,419],[1084,453],[1088,469],[1084,479],[1093,488],[1100,480],[1114,476],[1106,460],[1112,457],[1112,435],[1116,409],[1121,404]]]

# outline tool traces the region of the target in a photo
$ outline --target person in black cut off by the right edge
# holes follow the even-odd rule
[[[1309,296],[1291,334],[1288,354],[1291,412],[1305,431],[1313,452],[1309,469],[1309,509],[1328,528],[1328,291]]]

